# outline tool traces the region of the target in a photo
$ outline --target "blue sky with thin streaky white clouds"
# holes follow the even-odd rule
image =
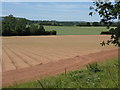
[[[92,2],[3,2],[2,15],[13,14],[30,20],[100,21],[89,16]]]

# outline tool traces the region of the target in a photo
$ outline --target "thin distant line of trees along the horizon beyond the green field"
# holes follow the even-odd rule
[[[107,26],[100,22],[77,22],[77,21],[30,21],[30,24],[41,23],[46,26]],[[112,22],[112,26],[117,26],[117,22]]]

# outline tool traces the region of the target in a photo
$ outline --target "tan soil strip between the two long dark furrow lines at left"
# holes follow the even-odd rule
[[[5,45],[4,45],[5,47]],[[11,52],[9,49],[7,49],[6,47],[4,48],[6,54],[8,55],[8,57],[12,60],[12,62],[14,63],[14,65],[16,66],[16,69],[18,68],[25,68],[25,67],[29,67],[28,64],[26,64],[22,58],[18,57],[15,53]]]

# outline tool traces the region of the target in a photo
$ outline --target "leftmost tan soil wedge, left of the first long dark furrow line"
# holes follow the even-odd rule
[[[7,53],[5,53],[4,49],[2,51],[2,66],[3,66],[3,72],[9,71],[9,70],[15,70],[16,66],[14,65],[14,62],[8,57]]]

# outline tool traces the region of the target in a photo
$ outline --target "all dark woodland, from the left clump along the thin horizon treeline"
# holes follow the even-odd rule
[[[28,36],[28,35],[56,35],[55,30],[46,31],[45,26],[106,26],[101,22],[84,22],[84,21],[35,21],[26,18],[18,18],[13,15],[2,17],[2,35],[3,36]],[[117,26],[113,22],[112,26]]]

